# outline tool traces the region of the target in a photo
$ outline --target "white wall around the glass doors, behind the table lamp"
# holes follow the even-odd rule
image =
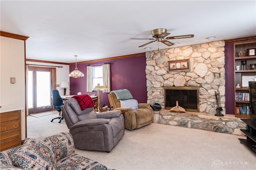
[[[27,61],[26,64],[38,64],[38,65],[47,65],[42,67],[51,67],[51,66],[63,66],[62,68],[56,67],[56,83],[60,85],[60,82],[69,82],[69,65],[66,64],[52,64],[52,63],[39,63]],[[30,65],[33,66],[33,65]],[[41,67],[41,66],[40,66]],[[66,95],[70,95],[70,88],[66,88]],[[60,96],[63,95],[63,88],[57,87],[57,90],[60,92]]]

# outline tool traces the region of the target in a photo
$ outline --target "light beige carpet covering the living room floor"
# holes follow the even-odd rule
[[[28,116],[28,137],[43,138],[68,131],[54,115]],[[256,170],[256,156],[240,144],[238,135],[151,123],[124,137],[111,152],[76,153],[116,170]]]

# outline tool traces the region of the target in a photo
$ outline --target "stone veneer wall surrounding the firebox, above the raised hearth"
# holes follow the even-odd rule
[[[147,103],[164,108],[164,86],[200,87],[200,112],[216,113],[214,92],[219,90],[225,114],[224,45],[224,41],[214,41],[146,52]],[[168,72],[167,61],[181,59],[190,59],[190,70]]]

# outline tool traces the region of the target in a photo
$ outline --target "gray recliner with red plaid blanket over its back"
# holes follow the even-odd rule
[[[66,100],[61,109],[76,149],[110,152],[124,136],[120,110],[96,114],[94,107],[81,110],[74,98]]]

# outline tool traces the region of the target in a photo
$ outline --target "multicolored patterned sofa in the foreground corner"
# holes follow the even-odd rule
[[[68,132],[41,140],[28,138],[24,145],[0,152],[0,169],[33,170],[107,170],[89,158],[74,153],[74,141]]]

